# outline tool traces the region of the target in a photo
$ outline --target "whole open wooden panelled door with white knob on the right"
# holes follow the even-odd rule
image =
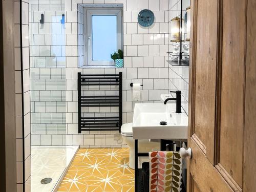
[[[256,191],[256,1],[191,14],[187,191]]]

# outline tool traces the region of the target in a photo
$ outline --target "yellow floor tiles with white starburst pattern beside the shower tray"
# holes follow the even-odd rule
[[[129,148],[83,148],[78,151],[57,191],[132,192],[134,170]]]

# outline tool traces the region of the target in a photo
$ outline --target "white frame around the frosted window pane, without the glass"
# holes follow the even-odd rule
[[[93,15],[116,15],[117,16],[117,49],[123,50],[123,22],[122,22],[122,8],[86,8],[86,19],[87,23],[84,25],[86,35],[84,35],[84,48],[86,52],[84,58],[88,66],[115,66],[114,60],[111,61],[94,61],[92,58],[92,16]],[[116,50],[117,51],[117,50]],[[111,54],[111,53],[110,53]]]

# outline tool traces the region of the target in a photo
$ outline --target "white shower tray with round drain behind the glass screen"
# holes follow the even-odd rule
[[[31,146],[31,191],[53,191],[78,146]],[[52,182],[41,184],[41,179],[52,178]]]

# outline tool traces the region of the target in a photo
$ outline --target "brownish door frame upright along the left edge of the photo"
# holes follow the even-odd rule
[[[2,149],[2,158],[5,159],[5,163],[0,163],[1,169],[5,166],[5,172],[2,173],[1,181],[5,179],[5,185],[1,185],[3,191],[16,191],[16,127],[15,127],[15,63],[14,63],[14,38],[13,38],[13,17],[14,17],[14,2],[13,1],[2,1],[0,0],[2,6],[1,12],[1,22],[0,33],[3,35],[3,40],[0,42],[2,44],[0,47],[3,49],[0,52],[2,56],[1,65],[1,105],[4,103],[4,108],[1,106],[1,134],[0,142],[1,149],[5,146],[5,153]],[[3,87],[2,87],[3,86]],[[3,118],[3,119],[2,119]],[[4,158],[5,157],[5,158]]]

